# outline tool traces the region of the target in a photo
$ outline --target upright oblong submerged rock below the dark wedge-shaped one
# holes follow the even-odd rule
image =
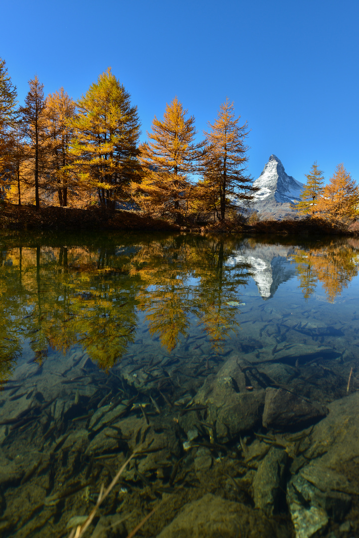
[[[262,508],[268,515],[275,514],[281,508],[279,502],[281,497],[284,497],[284,471],[287,462],[288,454],[283,449],[271,447],[253,480],[255,506]]]

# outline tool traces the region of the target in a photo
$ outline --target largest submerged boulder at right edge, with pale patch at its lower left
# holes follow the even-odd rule
[[[296,538],[310,538],[329,519],[342,521],[351,495],[359,494],[353,479],[359,457],[359,423],[353,410],[358,406],[359,393],[332,402],[328,416],[308,438],[310,447],[304,452],[308,463],[292,476],[287,489]]]

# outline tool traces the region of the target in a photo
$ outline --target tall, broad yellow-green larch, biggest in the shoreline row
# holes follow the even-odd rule
[[[78,187],[97,192],[100,206],[114,209],[127,200],[139,178],[140,122],[131,95],[109,67],[76,103],[70,153]]]

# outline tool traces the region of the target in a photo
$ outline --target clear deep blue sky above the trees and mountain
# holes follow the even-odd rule
[[[269,155],[305,181],[343,162],[359,182],[358,0],[2,3],[0,56],[19,101],[35,73],[73,98],[108,66],[132,95],[142,139],[175,95],[202,135],[226,96],[248,121],[249,172]]]

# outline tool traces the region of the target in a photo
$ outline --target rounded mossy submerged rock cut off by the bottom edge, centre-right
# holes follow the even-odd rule
[[[179,536],[274,538],[276,533],[270,521],[253,508],[207,493],[202,499],[186,504],[157,538]]]

